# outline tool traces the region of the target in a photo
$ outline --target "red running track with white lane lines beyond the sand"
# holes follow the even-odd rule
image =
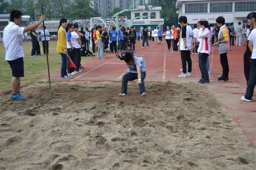
[[[147,82],[197,82],[197,76],[200,77],[198,68],[198,55],[192,55],[192,77],[177,77],[181,71],[180,52],[166,51],[167,45],[163,41],[161,45],[149,42],[149,48],[140,48],[141,42],[136,43],[137,57],[144,57],[147,65]],[[212,72],[210,75],[211,84],[207,87],[218,98],[233,120],[241,128],[247,139],[256,148],[256,105],[255,102],[243,102],[241,96],[246,90],[246,80],[244,78],[243,54],[245,46],[232,46],[227,56],[230,66],[230,82],[218,82],[217,78],[221,76],[222,68],[220,64],[217,48],[214,47]],[[212,55],[209,56],[210,65]],[[82,73],[76,74],[72,79],[66,81],[121,81],[122,75],[127,71],[124,61],[116,59],[114,53],[107,54],[106,60],[90,59],[81,63],[85,69]],[[60,71],[51,75],[53,81],[63,81],[60,79]],[[198,85],[195,84],[195,87]],[[201,88],[201,87],[198,87]],[[253,97],[256,101],[256,96]]]

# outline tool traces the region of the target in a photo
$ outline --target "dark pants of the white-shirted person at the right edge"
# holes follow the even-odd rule
[[[255,85],[256,85],[256,59],[252,59],[250,64],[250,78],[247,83],[246,94],[244,96],[246,99],[249,99],[249,100],[252,99]]]

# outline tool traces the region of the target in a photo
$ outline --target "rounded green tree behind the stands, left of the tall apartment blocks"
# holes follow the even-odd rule
[[[99,17],[98,11],[90,7],[90,0],[74,0],[70,8],[70,17],[71,18],[90,18],[90,17]]]

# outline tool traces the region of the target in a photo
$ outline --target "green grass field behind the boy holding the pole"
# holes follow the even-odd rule
[[[39,42],[41,46],[41,54],[43,54],[42,42]],[[61,57],[56,52],[57,41],[49,41],[49,68],[50,73],[61,68]],[[0,91],[11,88],[12,70],[9,63],[5,60],[5,49],[3,43],[0,43]],[[32,49],[31,42],[23,43],[24,51],[24,77],[21,78],[21,85],[34,82],[43,77],[48,77],[47,73],[47,59],[46,55],[30,57]],[[81,62],[89,59],[90,57],[82,57]]]

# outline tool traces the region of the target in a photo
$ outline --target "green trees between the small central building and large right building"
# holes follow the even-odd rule
[[[149,5],[162,6],[161,18],[164,19],[164,27],[178,24],[176,14],[176,0],[149,0]]]

